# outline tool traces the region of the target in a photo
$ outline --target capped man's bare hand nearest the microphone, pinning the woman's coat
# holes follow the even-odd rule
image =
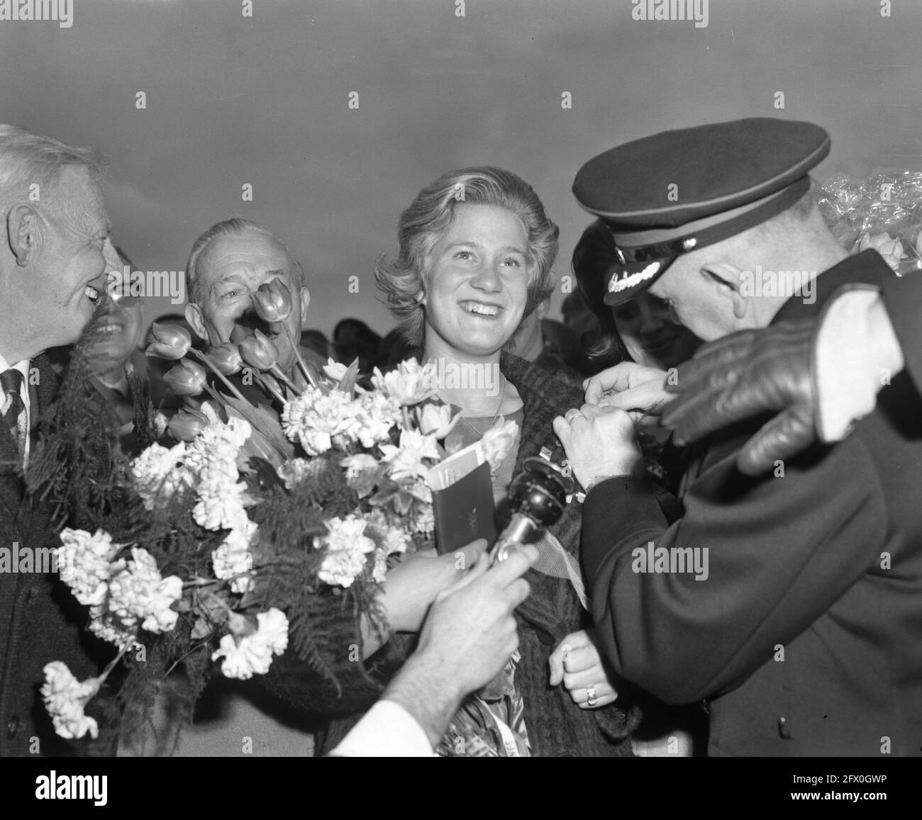
[[[644,474],[631,417],[616,407],[584,404],[553,421],[576,480],[588,492],[613,475]]]

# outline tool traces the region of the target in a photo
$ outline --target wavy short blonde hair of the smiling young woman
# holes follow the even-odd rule
[[[411,346],[423,341],[428,258],[451,226],[458,205],[498,205],[522,220],[528,235],[528,299],[523,319],[554,289],[550,267],[557,257],[559,228],[544,213],[531,185],[508,170],[490,167],[450,170],[427,185],[400,215],[399,250],[384,254],[374,279],[400,333]]]

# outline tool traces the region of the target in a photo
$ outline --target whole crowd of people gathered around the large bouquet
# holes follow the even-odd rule
[[[559,230],[508,170],[448,171],[408,204],[375,269],[397,323],[384,336],[356,319],[332,339],[304,330],[308,280],[269,228],[231,217],[195,240],[188,304],[161,321],[212,347],[259,329],[292,379],[299,356],[358,359],[366,376],[408,357],[495,368],[496,391],[437,393],[459,413],[452,449],[516,423],[492,475],[501,529],[514,475],[542,451],[566,459],[583,498],[495,566],[475,542],[461,562],[422,551],[389,568],[387,634],[325,613],[325,662],[345,685],[292,652],[274,662],[260,685],[323,717],[319,753],[919,754],[922,345],[906,306],[922,295],[830,232],[809,177],[829,147],[819,126],[761,119],[591,159],[573,193],[595,221],[573,253],[563,322],[549,318]],[[131,374],[143,369],[165,415],[183,398],[141,355],[139,299],[107,294],[125,257],[94,154],[0,126],[0,205],[0,528],[4,544],[46,545],[50,510],[26,496],[22,471],[53,401],[49,352],[103,311],[109,364],[95,385],[126,436]],[[753,272],[782,270],[805,272],[798,292],[751,287]],[[266,322],[253,294],[274,279],[299,310]],[[43,754],[73,752],[36,708],[42,667],[62,659],[89,676],[105,661],[56,583],[0,575],[4,755],[29,754],[36,737]],[[361,662],[347,661],[356,641]]]

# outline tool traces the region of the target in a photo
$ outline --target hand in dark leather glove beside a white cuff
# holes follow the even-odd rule
[[[739,452],[744,474],[770,470],[817,439],[817,393],[811,352],[813,320],[740,331],[698,350],[680,366],[679,393],[664,408],[664,427],[687,444],[750,416],[777,412]]]

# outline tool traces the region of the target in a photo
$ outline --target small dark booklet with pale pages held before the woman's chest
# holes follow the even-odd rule
[[[490,462],[479,441],[436,464],[427,475],[432,490],[435,549],[454,552],[478,538],[496,543],[496,510]]]

